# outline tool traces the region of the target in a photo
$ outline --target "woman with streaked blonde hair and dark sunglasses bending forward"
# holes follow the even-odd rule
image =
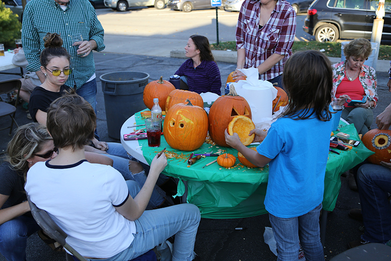
[[[29,123],[18,128],[0,166],[0,253],[7,260],[26,260],[27,237],[40,229],[24,191],[27,170],[57,156],[46,127]]]

